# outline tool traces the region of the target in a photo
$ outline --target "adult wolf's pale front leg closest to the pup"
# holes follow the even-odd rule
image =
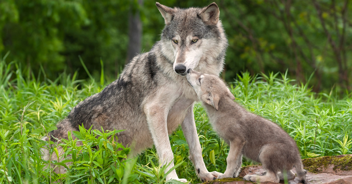
[[[193,106],[188,108],[187,115],[182,122],[182,131],[189,147],[189,158],[194,164],[195,171],[202,181],[214,180],[220,172],[208,172],[202,157],[202,148],[199,143],[196,124],[194,121]]]

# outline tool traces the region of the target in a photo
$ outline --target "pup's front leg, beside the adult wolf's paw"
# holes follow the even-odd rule
[[[242,148],[244,141],[234,140],[230,142],[230,151],[226,158],[227,166],[224,174],[219,175],[220,178],[232,178],[237,177],[242,164]]]

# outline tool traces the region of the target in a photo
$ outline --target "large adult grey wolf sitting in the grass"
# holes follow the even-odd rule
[[[67,132],[78,131],[81,124],[93,125],[94,129],[102,126],[104,130],[125,130],[118,141],[124,146],[133,145],[131,155],[138,155],[154,143],[159,163],[171,162],[167,172],[174,166],[168,135],[181,124],[197,175],[201,180],[216,179],[221,173],[208,172],[202,158],[193,115],[197,95],[188,85],[186,74],[190,68],[214,75],[222,71],[228,44],[219,7],[215,3],[188,9],[159,3],[156,6],[165,19],[161,40],[149,52],[134,57],[118,80],[78,103],[50,136],[67,138]],[[48,160],[48,150],[43,151]],[[179,179],[175,170],[166,176],[169,179],[187,182]]]

